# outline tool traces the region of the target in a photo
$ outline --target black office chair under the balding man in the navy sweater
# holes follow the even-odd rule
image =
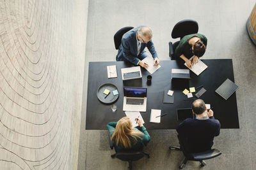
[[[201,163],[200,166],[203,167],[203,166],[206,166],[206,163],[204,162],[204,160],[212,159],[214,157],[218,157],[219,155],[221,155],[220,150],[217,150],[217,149],[211,149],[211,150],[207,150],[205,152],[200,152],[200,153],[186,153],[184,152],[184,150],[182,150],[182,148],[179,148],[177,146],[169,146],[169,149],[179,150],[183,152],[185,159],[183,160],[182,164],[179,166],[180,169],[186,166],[186,163],[188,162],[188,160],[199,161]]]

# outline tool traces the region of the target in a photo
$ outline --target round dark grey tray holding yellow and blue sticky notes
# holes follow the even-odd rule
[[[109,92],[110,94],[109,94],[107,97],[106,97],[106,94],[103,93],[105,89],[110,90],[110,92]],[[117,89],[117,87],[116,87],[115,85],[113,85],[113,84],[106,83],[106,84],[104,84],[104,85],[101,85],[101,86],[99,87],[99,89],[97,90],[97,97],[98,97],[98,99],[99,99],[102,103],[106,103],[106,104],[113,103],[113,102],[115,102],[115,101],[118,99],[118,97],[119,97],[119,92],[118,92],[118,94],[117,94],[116,96],[114,96],[114,94],[113,94],[113,91],[114,91],[114,90],[118,90],[118,89]],[[104,97],[106,97],[106,98],[104,98]]]

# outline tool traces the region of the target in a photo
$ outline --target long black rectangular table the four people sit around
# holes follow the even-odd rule
[[[236,129],[239,128],[239,120],[237,113],[236,92],[230,96],[227,101],[218,95],[215,90],[227,78],[234,81],[234,72],[232,59],[207,59],[202,60],[208,67],[199,76],[190,71],[190,80],[172,81],[171,69],[186,69],[183,64],[179,65],[176,60],[161,60],[161,67],[152,75],[151,85],[147,85],[148,71],[141,67],[143,77],[136,80],[122,81],[121,68],[131,67],[127,62],[89,62],[88,71],[88,93],[87,93],[87,109],[86,109],[86,129],[107,129],[108,122],[118,121],[125,117],[123,111],[124,90],[123,87],[147,87],[147,111],[140,112],[145,127],[147,129],[176,129],[179,125],[177,120],[177,108],[191,108],[194,100],[188,99],[182,91],[189,87],[199,87],[204,85],[207,91],[200,97],[206,104],[211,104],[214,111],[214,117],[220,120],[221,128]],[[116,65],[117,78],[108,78],[107,66]],[[115,104],[116,112],[112,112],[112,104],[104,104],[97,98],[97,90],[104,83],[112,83],[119,92],[119,97]],[[196,89],[196,92],[199,89]],[[163,91],[173,90],[174,103],[163,103]],[[193,98],[195,93],[193,93]],[[168,115],[161,117],[161,123],[150,123],[151,109],[161,110],[161,113]]]

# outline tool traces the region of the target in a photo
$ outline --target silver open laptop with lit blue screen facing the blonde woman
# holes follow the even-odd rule
[[[124,111],[146,111],[147,88],[124,87]]]

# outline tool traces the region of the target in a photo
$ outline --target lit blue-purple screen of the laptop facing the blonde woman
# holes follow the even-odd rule
[[[126,96],[126,97],[147,97],[147,88],[124,87],[124,96]]]

